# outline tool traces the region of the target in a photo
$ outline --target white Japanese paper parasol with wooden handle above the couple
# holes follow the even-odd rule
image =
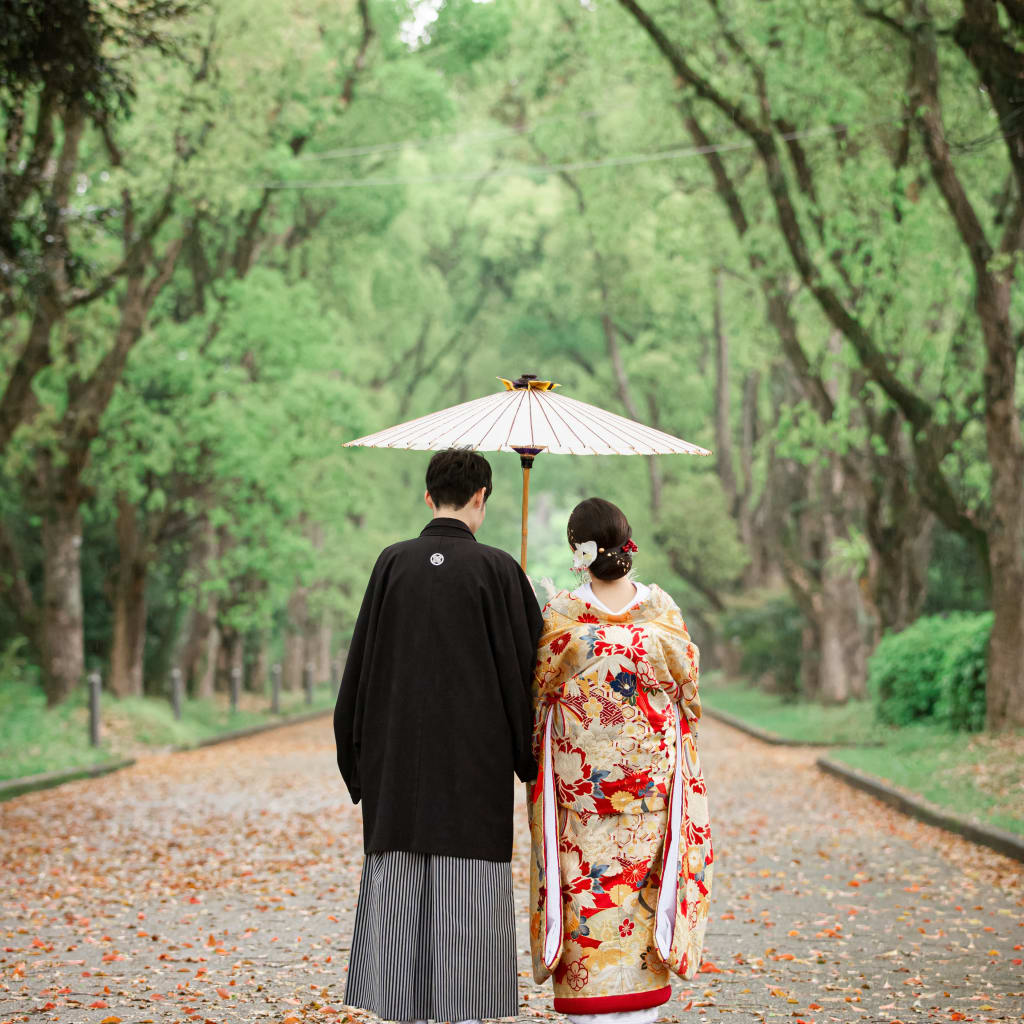
[[[407,423],[368,434],[346,447],[411,449],[439,452],[467,447],[478,452],[515,452],[522,466],[522,546],[519,564],[526,568],[526,513],[529,471],[542,453],[551,455],[711,455],[707,449],[644,426],[625,416],[556,394],[557,384],[523,374],[498,378],[503,391],[452,406]]]

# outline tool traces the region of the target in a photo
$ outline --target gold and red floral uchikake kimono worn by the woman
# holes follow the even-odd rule
[[[697,648],[675,602],[609,614],[566,591],[544,609],[528,801],[530,944],[554,1009],[659,1006],[700,967],[708,796],[693,728]]]

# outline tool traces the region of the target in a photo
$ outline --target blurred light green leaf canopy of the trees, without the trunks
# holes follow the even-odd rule
[[[43,5],[23,6],[28,17]],[[366,50],[354,0],[185,6],[117,5],[154,17],[180,8],[187,16],[173,38],[186,59],[108,40],[134,88],[130,116],[112,122],[117,159],[95,126],[87,130],[71,201],[76,287],[94,286],[122,260],[126,190],[136,232],[172,197],[155,254],[182,242],[88,453],[90,664],[109,657],[126,506],[148,564],[151,685],[180,650],[190,613],[213,596],[218,627],[245,634],[247,652],[260,640],[264,653],[280,655],[295,628],[286,609],[300,589],[337,642],[351,629],[377,551],[416,532],[426,515],[426,455],[343,450],[344,440],[488,393],[498,375],[530,371],[566,394],[716,447],[719,327],[741,494],[726,493],[713,460],[662,458],[655,514],[646,460],[542,456],[530,568],[571,585],[565,516],[579,498],[608,497],[634,524],[639,577],[670,589],[690,618],[724,595],[722,632],[739,638],[744,672],[770,673],[786,696],[799,693],[805,620],[777,594],[736,599],[750,558],[740,536],[772,534],[754,542],[765,542],[759,567],[781,538],[811,588],[827,571],[868,580],[877,552],[867,539],[878,535],[863,521],[862,484],[904,468],[911,488],[920,481],[899,428],[881,432],[897,414],[864,383],[813,294],[797,287],[756,157],[741,140],[733,148],[734,127],[699,102],[687,105],[688,90],[613,3],[449,0],[410,42],[400,22],[421,5],[371,0]],[[950,424],[957,439],[943,469],[983,521],[984,351],[964,317],[970,267],[913,132],[902,152],[905,69],[893,57],[896,44],[880,50],[884,27],[824,0],[654,6],[716,85],[751,109],[750,69],[730,57],[736,47],[723,49],[724,28],[764,66],[773,116],[801,130],[782,148],[809,256],[876,332],[887,364]],[[62,25],[36,42],[57,45]],[[22,45],[13,36],[5,43]],[[863,56],[879,52],[886,60]],[[972,76],[955,50],[945,58],[950,124],[974,124]],[[41,74],[23,77],[37,87]],[[742,239],[715,199],[707,162],[678,152],[690,141],[681,106],[725,143],[721,166],[750,222]],[[0,114],[7,126],[8,112]],[[842,133],[827,130],[837,125]],[[993,150],[963,150],[958,168],[988,223],[1005,212],[988,186]],[[801,154],[813,188],[797,188]],[[42,213],[28,209],[15,233],[38,236]],[[253,223],[248,266],[237,257]],[[766,323],[756,267],[784,286],[808,366],[835,407],[825,421]],[[54,333],[51,364],[34,383],[39,411],[0,467],[0,516],[37,601],[33,481],[44,457],[66,457],[61,417],[110,352],[122,280]],[[17,341],[31,309],[11,294],[0,324]],[[0,385],[17,349],[0,346]],[[837,455],[868,470],[856,485],[846,477],[830,509],[843,519],[840,540],[825,550],[805,527],[826,507],[819,474],[843,468]],[[517,553],[518,465],[506,455],[492,462],[496,492],[481,540]],[[741,534],[743,502],[751,516]],[[214,542],[205,551],[208,530]],[[977,563],[957,543],[936,531],[929,611],[986,606]],[[0,634],[19,628],[5,608]],[[964,663],[964,673],[976,669]],[[954,707],[950,695],[945,711],[929,700],[930,714],[977,718],[970,701]],[[909,703],[907,714],[918,714]]]

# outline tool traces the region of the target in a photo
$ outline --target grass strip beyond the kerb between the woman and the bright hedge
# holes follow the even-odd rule
[[[753,686],[712,678],[700,686],[701,703],[713,711],[735,715],[744,722],[785,739],[805,739],[835,746],[877,743],[889,733],[874,721],[867,700],[842,707],[784,700]]]

